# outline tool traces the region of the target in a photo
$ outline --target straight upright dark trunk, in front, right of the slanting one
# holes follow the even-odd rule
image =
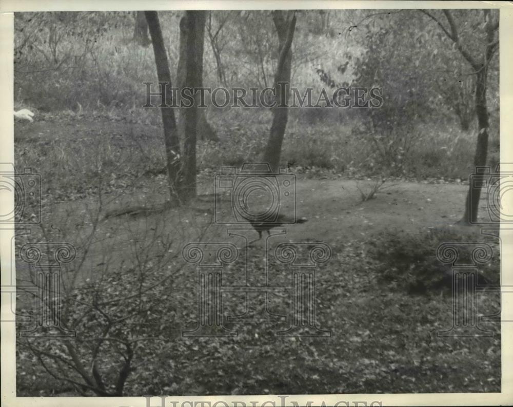
[[[188,88],[203,86],[203,48],[205,34],[205,11],[187,11],[180,22],[180,32],[186,38],[185,81]],[[196,196],[196,134],[199,129],[201,103],[199,92],[194,96],[191,107],[182,108],[184,112],[184,180],[182,194],[185,200]]]

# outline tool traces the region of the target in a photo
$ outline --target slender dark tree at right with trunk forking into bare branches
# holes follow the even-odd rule
[[[493,14],[489,9],[478,10],[481,14],[482,20],[470,27],[468,17],[465,15],[463,24],[458,26],[453,12],[450,10],[442,10],[445,17],[445,24],[442,23],[442,18],[436,16],[431,11],[421,10],[431,20],[435,21],[442,32],[454,44],[458,52],[463,56],[463,59],[470,65],[472,73],[476,75],[475,82],[475,109],[478,119],[478,140],[476,146],[476,153],[474,156],[474,166],[484,167],[486,165],[486,158],[488,152],[488,129],[489,129],[489,113],[486,104],[486,89],[488,79],[488,69],[492,58],[497,51],[499,45],[498,31],[499,31],[499,13],[496,10]],[[477,29],[479,42],[477,43],[477,50],[471,52],[472,49],[467,42],[465,45],[462,41],[462,27],[467,28],[471,33]],[[472,41],[475,44],[474,41]],[[481,198],[481,184],[469,183],[469,190],[465,202],[465,214],[459,221],[461,223],[474,223],[477,221],[479,200]]]

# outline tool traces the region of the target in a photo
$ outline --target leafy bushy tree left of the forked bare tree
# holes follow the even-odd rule
[[[383,89],[383,103],[379,108],[370,108],[369,102],[365,101],[358,103],[366,108],[355,108],[362,120],[353,127],[352,134],[372,144],[372,152],[366,157],[370,168],[385,172],[385,175],[401,176],[409,150],[419,138],[416,127],[427,122],[433,113],[430,85],[422,77],[417,63],[411,61],[415,45],[407,40],[412,35],[410,29],[416,29],[409,25],[411,16],[406,13],[379,15],[381,17],[374,18],[370,24],[355,24],[360,27],[356,35],[361,37],[365,52],[354,58],[347,53],[346,61],[344,64],[340,61],[337,70],[343,74],[349,62],[352,63],[353,101],[369,88]],[[323,70],[318,73],[321,81],[330,87],[344,87],[343,83],[333,83],[331,76]]]

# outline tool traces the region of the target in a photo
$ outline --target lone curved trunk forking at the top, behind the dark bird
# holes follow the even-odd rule
[[[269,139],[264,152],[264,162],[267,162],[273,172],[278,172],[283,137],[287,127],[290,87],[290,72],[292,62],[292,39],[295,30],[295,14],[288,12],[285,18],[281,10],[273,12],[273,22],[278,32],[279,57],[276,73],[274,75],[274,88],[276,89],[276,104],[272,108],[273,118]],[[282,85],[280,85],[282,84]]]

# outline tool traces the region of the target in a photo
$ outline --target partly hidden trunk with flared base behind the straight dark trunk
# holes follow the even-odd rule
[[[204,18],[205,20],[205,18]],[[186,68],[186,61],[188,57],[188,28],[187,28],[187,22],[186,22],[186,15],[181,18],[180,20],[180,55],[178,60],[178,68],[176,69],[176,84],[179,89],[183,87],[187,87],[190,85],[187,85],[186,75],[187,75],[187,68]],[[203,55],[203,48],[204,48],[204,33],[205,33],[205,23],[203,23],[202,27],[202,34],[196,35],[196,41],[198,44],[196,44],[196,47],[202,49],[202,55]],[[201,42],[201,44],[200,44]],[[203,66],[203,61],[202,61]],[[203,71],[201,74],[201,85],[203,86]],[[180,104],[180,95],[177,98],[177,102]],[[181,137],[183,138],[183,135],[185,133],[185,112],[187,108],[180,108],[179,118],[178,118],[178,129]],[[219,141],[218,136],[215,134],[214,129],[212,126],[208,123],[206,114],[205,114],[205,108],[200,108],[197,112],[198,115],[198,125],[196,126],[196,138],[198,140],[210,140],[210,141]]]

